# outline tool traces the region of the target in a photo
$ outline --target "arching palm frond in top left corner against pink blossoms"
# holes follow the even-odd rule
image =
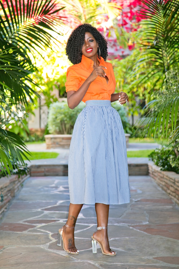
[[[59,27],[64,18],[56,13],[64,8],[58,1],[25,0],[15,1],[0,0],[0,37],[23,47],[34,49],[51,46],[52,31],[59,34]],[[36,27],[34,27],[34,25]]]

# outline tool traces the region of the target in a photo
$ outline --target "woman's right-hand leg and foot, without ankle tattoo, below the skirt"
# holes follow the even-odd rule
[[[109,204],[95,204],[95,210],[97,215],[98,227],[107,227],[108,224],[108,215],[109,215]],[[103,246],[105,253],[114,254],[114,251],[111,251],[109,247],[107,229],[101,229],[96,231],[93,234],[93,237],[97,239]]]

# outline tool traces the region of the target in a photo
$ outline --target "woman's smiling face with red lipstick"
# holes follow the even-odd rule
[[[93,56],[97,56],[98,44],[94,38],[94,36],[86,32],[84,38],[84,44],[82,46],[82,54],[88,58]]]

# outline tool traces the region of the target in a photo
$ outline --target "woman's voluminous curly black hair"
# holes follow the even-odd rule
[[[84,44],[86,32],[89,32],[94,36],[100,48],[101,56],[106,61],[106,58],[108,55],[106,39],[95,27],[93,27],[90,24],[85,23],[76,27],[67,40],[67,46],[66,46],[65,51],[66,51],[66,55],[68,55],[68,59],[70,60],[70,62],[72,62],[72,64],[74,65],[81,62],[81,57],[82,57],[81,50]]]

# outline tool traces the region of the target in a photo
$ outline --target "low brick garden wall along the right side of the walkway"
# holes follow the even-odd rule
[[[179,204],[179,174],[170,171],[161,171],[160,167],[149,163],[149,175],[156,183]]]

